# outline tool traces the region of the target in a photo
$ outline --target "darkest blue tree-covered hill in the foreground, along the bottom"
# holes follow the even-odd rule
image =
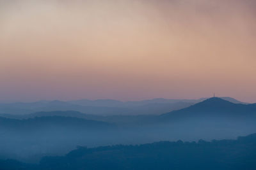
[[[2,169],[256,169],[256,134],[236,140],[157,142],[76,150],[40,164],[1,160]]]

